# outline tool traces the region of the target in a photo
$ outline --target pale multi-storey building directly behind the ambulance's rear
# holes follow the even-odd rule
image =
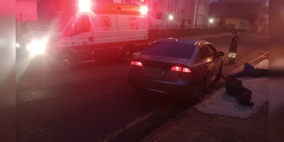
[[[209,0],[113,0],[114,3],[130,5],[147,5],[149,9],[149,25],[155,28],[178,28],[181,20],[184,24],[207,25]],[[169,19],[172,16],[173,19]],[[158,27],[157,27],[158,28]]]

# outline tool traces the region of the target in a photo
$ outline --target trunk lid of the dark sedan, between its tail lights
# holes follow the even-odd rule
[[[137,76],[176,82],[179,79],[181,72],[173,71],[171,68],[173,66],[182,67],[189,60],[190,59],[140,54],[135,57],[135,61],[141,62],[143,66],[135,67],[135,73]]]

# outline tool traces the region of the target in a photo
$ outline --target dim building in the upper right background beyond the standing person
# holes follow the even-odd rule
[[[263,12],[265,2],[265,0],[212,2],[209,6],[209,17],[214,19],[215,23],[223,23],[234,29],[261,31],[267,25]]]

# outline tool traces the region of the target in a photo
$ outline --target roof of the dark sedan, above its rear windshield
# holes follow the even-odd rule
[[[191,45],[197,45],[201,42],[209,43],[208,41],[205,41],[205,40],[188,39],[188,38],[162,38],[162,39],[156,40],[155,42],[169,42],[169,43],[176,42],[176,43],[191,44]]]

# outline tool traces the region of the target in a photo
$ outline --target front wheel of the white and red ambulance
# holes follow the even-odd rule
[[[72,54],[64,53],[58,57],[58,69],[61,72],[70,72],[75,70],[75,59]]]

